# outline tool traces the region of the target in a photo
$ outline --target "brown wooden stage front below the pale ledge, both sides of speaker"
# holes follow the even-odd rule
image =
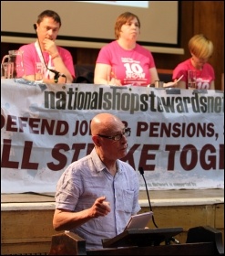
[[[153,191],[152,191],[153,192]],[[157,191],[155,194],[157,195]],[[149,208],[142,208],[142,212]],[[181,227],[184,232],[175,238],[186,242],[189,228],[209,225],[220,229],[224,240],[224,205],[153,207],[155,222],[159,228]],[[44,253],[50,250],[54,210],[2,211],[1,252]],[[155,229],[150,221],[148,227]]]

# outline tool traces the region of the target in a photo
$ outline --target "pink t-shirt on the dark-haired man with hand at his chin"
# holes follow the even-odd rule
[[[41,59],[39,58],[38,53],[36,51],[35,43],[24,45],[19,49],[24,52],[23,59],[24,59],[24,68],[25,68],[26,76],[34,75],[36,62],[41,62]],[[57,50],[58,50],[59,55],[63,59],[66,69],[68,69],[70,74],[73,76],[73,78],[75,78],[75,68],[74,68],[73,58],[72,58],[70,52],[66,48],[61,48],[58,46],[57,46]],[[55,69],[52,60],[51,60],[50,65],[48,65],[49,54],[44,51],[43,56],[44,56],[46,65],[48,66],[48,69]]]

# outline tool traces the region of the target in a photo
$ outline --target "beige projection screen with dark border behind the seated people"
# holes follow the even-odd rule
[[[35,37],[33,24],[46,9],[62,20],[57,39],[65,46],[100,48],[115,39],[114,25],[124,12],[140,19],[138,42],[147,47],[179,49],[179,1],[1,1],[1,36]],[[34,39],[33,39],[34,40]]]

